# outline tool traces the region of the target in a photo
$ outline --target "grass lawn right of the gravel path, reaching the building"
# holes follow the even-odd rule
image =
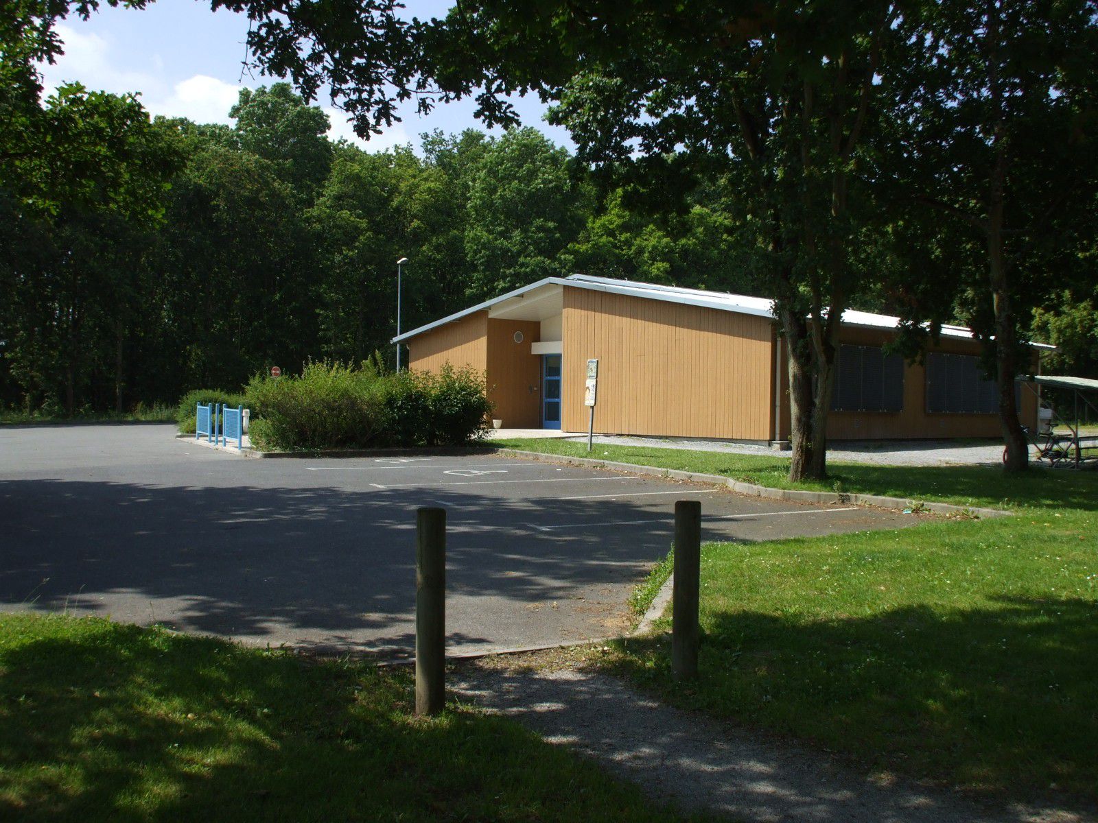
[[[561,441],[516,448],[585,454]],[[595,455],[791,486],[776,456],[606,446]],[[708,544],[699,681],[671,680],[659,634],[615,644],[600,665],[674,704],[878,771],[1000,798],[1098,800],[1098,472],[832,471],[844,491],[1016,514]]]

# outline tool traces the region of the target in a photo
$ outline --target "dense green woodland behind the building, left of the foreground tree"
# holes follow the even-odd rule
[[[751,289],[705,191],[650,216],[534,128],[368,153],[287,83],[242,92],[233,127],[78,87],[42,111],[125,138],[79,189],[0,158],[0,408],[121,414],[378,350],[392,368],[400,257],[405,329],[574,271]]]

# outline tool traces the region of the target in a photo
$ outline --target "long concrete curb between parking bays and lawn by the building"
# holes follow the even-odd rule
[[[614,469],[621,472],[634,472],[653,477],[669,477],[671,480],[688,481],[691,483],[708,483],[716,486],[727,486],[737,494],[749,497],[764,497],[770,500],[788,500],[791,503],[815,503],[832,505],[841,503],[852,503],[855,506],[876,506],[885,509],[916,508],[922,511],[932,511],[935,515],[965,515],[972,517],[1008,517],[1011,511],[1001,509],[989,509],[979,507],[954,506],[950,503],[931,503],[914,500],[903,497],[884,497],[882,495],[863,494],[840,494],[837,492],[804,492],[795,488],[771,488],[759,486],[754,483],[742,483],[741,481],[725,477],[719,474],[702,474],[701,472],[681,472],[675,469],[658,469],[650,465],[637,465],[635,463],[617,463],[613,460],[598,460],[596,458],[573,458],[567,454],[548,454],[537,451],[523,451],[520,449],[495,448],[496,454],[506,454],[515,458],[528,458],[540,460],[547,463],[565,463],[568,465],[582,465],[591,469]]]

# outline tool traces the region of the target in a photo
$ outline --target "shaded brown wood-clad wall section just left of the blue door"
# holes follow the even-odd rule
[[[515,332],[523,341],[515,342]],[[541,358],[530,353],[537,342],[541,324],[537,320],[488,322],[489,399],[495,404],[493,415],[508,429],[536,429],[541,426]]]

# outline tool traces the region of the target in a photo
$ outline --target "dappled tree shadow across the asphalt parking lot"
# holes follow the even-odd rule
[[[448,511],[450,596],[518,608],[629,584],[670,544],[665,530],[629,526],[653,515],[636,503],[604,499],[594,508],[469,488],[0,482],[0,604],[109,612],[250,642],[407,650],[417,506]],[[536,528],[583,522],[626,525],[551,535]],[[492,628],[495,636],[453,632],[449,643],[508,642],[505,617]]]

